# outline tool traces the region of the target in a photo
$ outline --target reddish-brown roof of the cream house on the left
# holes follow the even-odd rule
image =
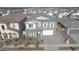
[[[23,20],[25,17],[29,15],[30,14],[15,13],[7,16],[0,16],[0,23],[20,22],[21,20]]]

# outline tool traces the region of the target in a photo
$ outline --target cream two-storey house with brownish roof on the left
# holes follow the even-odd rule
[[[26,14],[15,13],[0,17],[0,35],[2,39],[14,39],[21,37],[24,30],[24,20],[27,19]]]

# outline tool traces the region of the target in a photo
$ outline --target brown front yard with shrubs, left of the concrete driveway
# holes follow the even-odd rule
[[[1,40],[0,48],[39,48],[39,45],[43,43],[43,40],[38,38],[28,37],[12,40]]]

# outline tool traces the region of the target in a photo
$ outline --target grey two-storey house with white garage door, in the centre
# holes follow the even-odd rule
[[[57,21],[44,13],[30,15],[25,21],[25,35],[31,37],[53,36],[57,27]]]

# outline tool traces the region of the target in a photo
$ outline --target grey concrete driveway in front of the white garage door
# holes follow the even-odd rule
[[[56,33],[53,36],[44,36],[43,37],[44,44],[64,44],[64,42],[61,39],[61,35],[59,33]]]

